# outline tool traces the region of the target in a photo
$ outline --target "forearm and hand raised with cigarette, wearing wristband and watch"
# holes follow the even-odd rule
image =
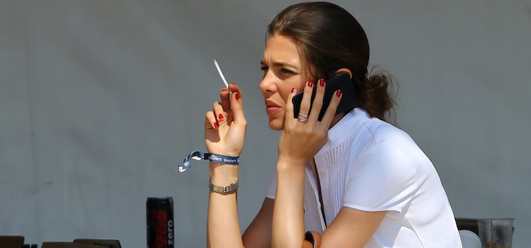
[[[242,107],[241,91],[235,84],[220,92],[205,116],[205,146],[210,153],[238,157],[244,147],[247,122]],[[238,181],[238,166],[210,162],[210,181],[216,186],[229,186]],[[210,192],[207,217],[207,247],[244,247],[236,207],[236,191]]]

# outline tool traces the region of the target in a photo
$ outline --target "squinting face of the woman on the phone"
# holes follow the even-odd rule
[[[308,69],[302,67],[297,45],[282,35],[272,35],[265,41],[260,64],[263,70],[260,89],[265,99],[269,128],[282,130],[287,96],[293,88],[302,91]]]

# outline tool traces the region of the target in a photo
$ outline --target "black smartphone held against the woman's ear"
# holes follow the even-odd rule
[[[354,84],[352,81],[350,81],[350,75],[346,72],[334,74],[329,79],[326,79],[325,89],[324,89],[324,96],[323,96],[323,106],[321,107],[321,112],[319,113],[319,118],[317,120],[321,121],[323,119],[324,112],[326,112],[326,108],[329,107],[330,100],[333,96],[333,94],[338,90],[341,89],[341,94],[343,95],[341,97],[341,101],[339,102],[338,108],[336,109],[336,115],[338,113],[343,113],[345,111],[348,111],[350,108],[354,108],[358,105],[358,98],[356,97],[356,93],[354,90]],[[312,92],[312,101],[310,101],[310,111],[312,111],[312,104],[314,103],[314,98],[316,94],[316,86],[319,83],[316,83],[314,85],[314,89]],[[299,111],[300,111],[300,103],[302,102],[302,92],[299,94],[293,96],[292,98],[293,102],[293,117],[298,118],[299,117]],[[310,113],[310,112],[308,112]]]

